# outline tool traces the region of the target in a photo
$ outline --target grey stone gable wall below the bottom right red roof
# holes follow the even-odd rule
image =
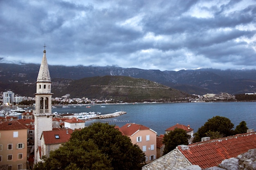
[[[160,159],[145,165],[142,170],[180,170],[191,165],[180,151],[175,149]]]

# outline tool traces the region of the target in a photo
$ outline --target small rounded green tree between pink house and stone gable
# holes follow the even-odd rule
[[[178,145],[188,145],[190,135],[186,134],[186,130],[175,128],[173,131],[164,134],[164,151],[163,154],[166,155],[171,150],[175,149]]]

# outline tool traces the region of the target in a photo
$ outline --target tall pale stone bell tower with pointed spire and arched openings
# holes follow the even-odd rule
[[[43,60],[36,80],[36,107],[33,111],[35,117],[35,163],[40,161],[39,151],[42,132],[52,130],[52,82],[46,60],[46,51],[44,50],[43,53]]]

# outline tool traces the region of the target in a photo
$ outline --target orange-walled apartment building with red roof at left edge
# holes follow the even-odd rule
[[[0,123],[0,169],[27,170],[27,127],[18,121]]]

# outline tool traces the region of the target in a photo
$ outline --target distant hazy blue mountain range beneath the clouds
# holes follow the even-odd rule
[[[35,86],[40,64],[0,63],[0,91],[13,90],[28,93]],[[85,77],[127,76],[143,78],[179,91],[204,95],[226,92],[232,95],[256,92],[256,70],[197,70],[160,71],[118,66],[58,66],[49,65],[53,86],[61,89],[70,81]],[[86,82],[85,82],[86,83]],[[15,86],[18,86],[19,88]],[[23,92],[22,92],[23,91]],[[34,90],[35,93],[35,90]]]

